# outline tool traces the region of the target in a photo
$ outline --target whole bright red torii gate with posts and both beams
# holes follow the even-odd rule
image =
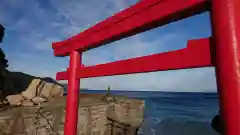
[[[190,40],[185,49],[80,66],[81,54],[92,48],[135,35],[204,11],[210,11],[211,38]],[[239,0],[142,0],[136,5],[62,42],[53,43],[55,56],[70,55],[65,135],[76,135],[79,80],[87,77],[214,66],[221,114],[227,135],[240,134],[240,1]]]

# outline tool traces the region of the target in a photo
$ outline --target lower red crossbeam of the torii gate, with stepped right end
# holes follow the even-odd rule
[[[88,78],[212,66],[209,46],[208,38],[190,40],[185,49],[80,68],[77,77]],[[57,73],[58,80],[67,78],[67,72]]]

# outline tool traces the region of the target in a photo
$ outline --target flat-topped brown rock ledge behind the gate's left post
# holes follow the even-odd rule
[[[78,135],[135,135],[143,121],[142,100],[115,96],[116,101],[106,102],[101,94],[79,96]],[[64,96],[38,106],[2,111],[0,134],[63,135],[65,102]],[[16,130],[17,126],[21,129]]]

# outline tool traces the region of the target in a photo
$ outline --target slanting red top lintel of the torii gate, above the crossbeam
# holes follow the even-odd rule
[[[154,0],[146,0],[143,2],[156,3]],[[148,4],[148,6],[149,5],[151,4]],[[102,26],[99,26],[100,28],[93,27],[93,30],[89,30],[91,32],[86,32],[83,36],[75,36],[75,39],[67,40],[69,42],[55,43],[59,45],[54,45],[53,43],[55,56],[66,56],[71,50],[86,51],[115,40],[189,17],[207,10],[208,2],[207,0],[164,0],[148,8],[142,8],[142,10],[139,10],[139,7],[132,7],[132,10],[139,11],[135,14],[131,15],[133,11],[125,11],[125,13],[122,13],[121,16],[127,17],[117,22],[115,22],[114,18],[110,18],[105,21],[105,27],[103,27],[104,24],[100,25]],[[121,16],[119,18],[121,18]],[[116,18],[118,19],[118,17]]]

